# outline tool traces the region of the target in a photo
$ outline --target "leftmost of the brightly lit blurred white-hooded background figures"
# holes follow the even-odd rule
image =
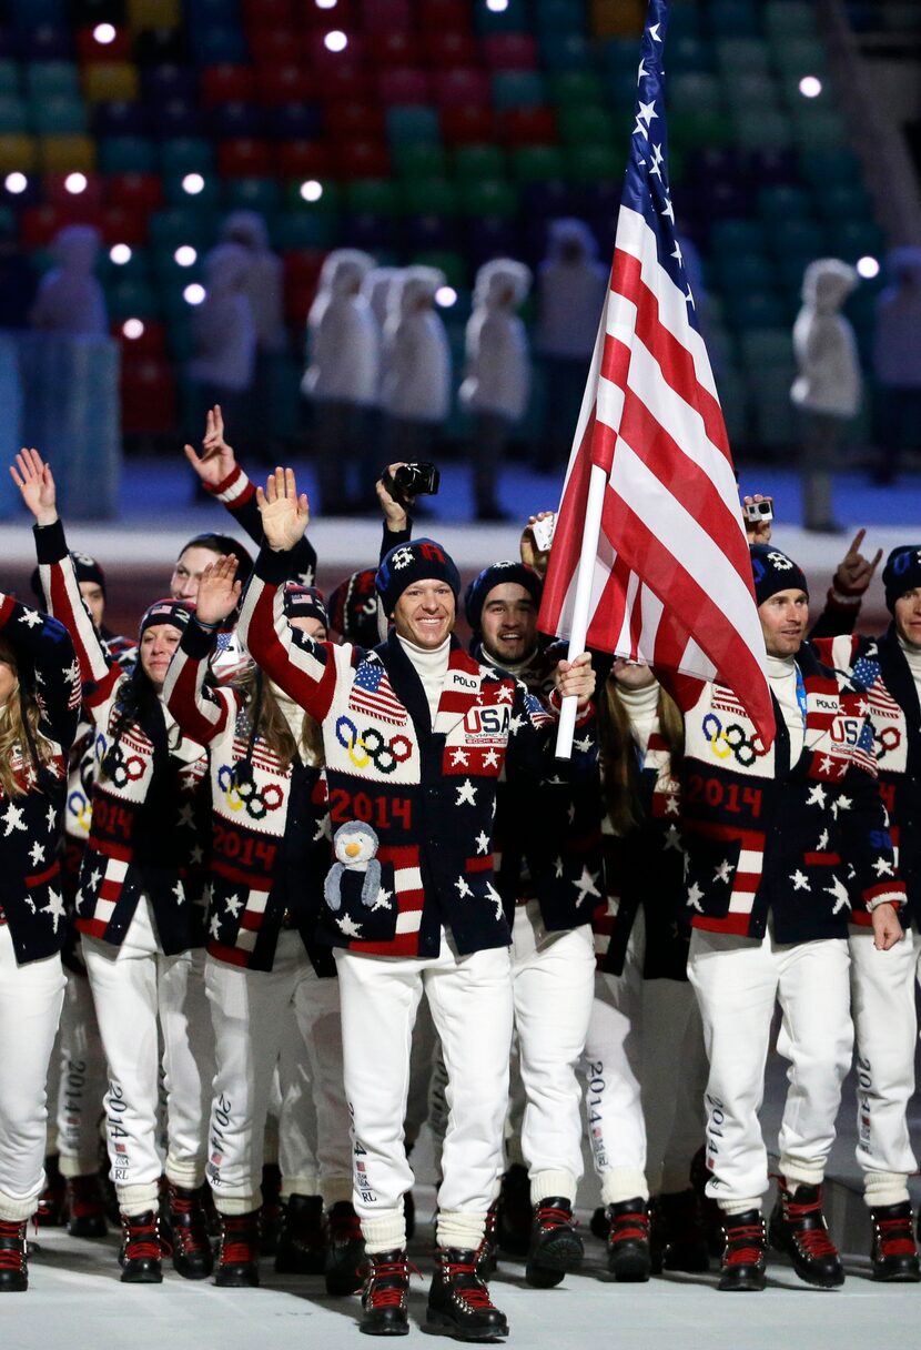
[[[313,408],[313,447],[324,516],[374,501],[380,455],[368,446],[367,413],[379,396],[380,329],[361,294],[374,258],[357,248],[326,256],[307,315],[309,364],[301,393]],[[357,468],[357,494],[349,473]]]

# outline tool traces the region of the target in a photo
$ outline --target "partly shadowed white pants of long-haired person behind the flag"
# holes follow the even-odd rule
[[[620,975],[599,972],[585,1042],[588,1137],[601,1200],[685,1191],[704,1142],[707,1052],[685,980],[645,980],[646,923],[634,919]]]

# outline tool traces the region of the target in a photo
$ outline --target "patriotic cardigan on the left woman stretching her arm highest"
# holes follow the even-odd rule
[[[124,940],[138,900],[150,896],[167,956],[204,942],[208,760],[201,745],[173,737],[155,759],[136,724],[120,736],[119,764],[100,765],[129,676],[111,659],[80,595],[61,521],[35,529],[50,605],[70,632],[84,680],[84,709],[96,729],[92,821],[77,890],[77,929],[113,945]],[[178,728],[173,728],[178,732]]]

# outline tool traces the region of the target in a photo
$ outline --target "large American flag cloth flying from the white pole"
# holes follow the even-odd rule
[[[587,644],[728,684],[765,745],[774,716],[748,547],[667,181],[650,0],[614,266],[566,470],[539,626],[569,636],[592,466],[605,477]],[[688,706],[694,684],[678,683]]]

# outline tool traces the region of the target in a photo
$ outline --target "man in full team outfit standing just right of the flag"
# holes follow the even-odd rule
[[[882,959],[902,937],[866,695],[804,645],[809,593],[779,549],[751,549],[777,737],[766,751],[735,694],[707,684],[685,720],[688,973],[709,1057],[708,1195],[724,1216],[720,1288],[765,1288],[767,1152],[758,1112],[775,1003],[790,1088],[770,1241],[808,1284],[844,1280],[823,1180],[851,1066],[848,919]],[[850,875],[850,868],[854,875]]]

